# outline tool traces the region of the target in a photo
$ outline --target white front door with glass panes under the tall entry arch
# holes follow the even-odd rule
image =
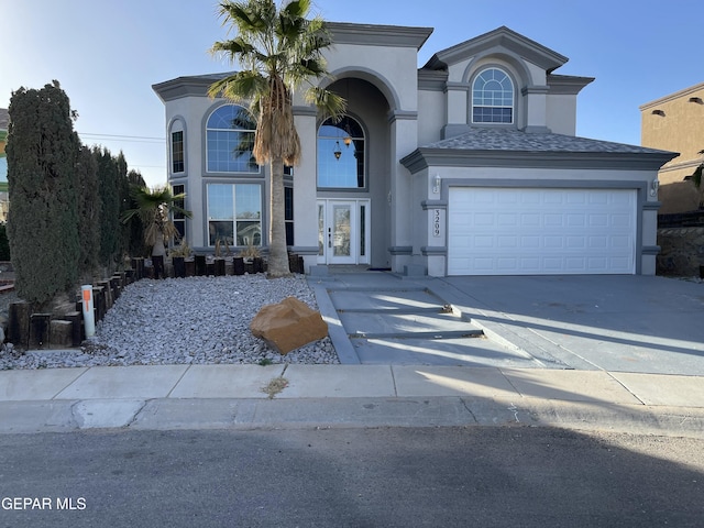
[[[318,200],[318,263],[367,264],[369,200]]]

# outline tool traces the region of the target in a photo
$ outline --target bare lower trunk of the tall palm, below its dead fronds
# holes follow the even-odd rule
[[[272,158],[271,170],[268,276],[271,278],[278,278],[290,275],[288,268],[288,250],[286,248],[284,160],[280,157]]]

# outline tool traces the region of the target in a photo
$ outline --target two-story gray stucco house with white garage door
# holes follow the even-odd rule
[[[653,274],[657,179],[674,154],[575,138],[593,79],[498,28],[436,53],[432,29],[330,23],[331,79],[346,117],[297,101],[302,161],[286,177],[288,244],[314,265],[409,275]],[[266,241],[267,167],[244,108],[206,96],[227,74],[153,86],[165,105],[168,182],[189,244]],[[264,248],[265,250],[265,248]]]

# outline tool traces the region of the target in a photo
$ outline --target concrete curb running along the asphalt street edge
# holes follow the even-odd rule
[[[0,404],[0,433],[361,427],[558,427],[704,439],[704,409],[458,396]]]

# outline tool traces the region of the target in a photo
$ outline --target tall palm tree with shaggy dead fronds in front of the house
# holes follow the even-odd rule
[[[268,276],[290,274],[284,220],[284,164],[300,158],[300,140],[294,124],[293,96],[304,85],[307,102],[326,116],[339,117],[344,99],[314,85],[328,75],[322,52],[331,37],[319,16],[308,19],[310,0],[227,0],[220,3],[223,24],[237,31],[234,38],[216,42],[213,54],[223,54],[241,70],[213,82],[208,95],[248,102],[256,116],[253,155],[270,164]]]

